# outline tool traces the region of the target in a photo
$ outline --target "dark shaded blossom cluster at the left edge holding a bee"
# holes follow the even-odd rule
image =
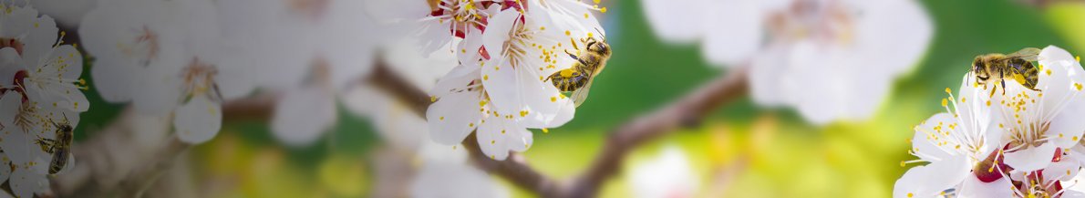
[[[75,163],[74,128],[90,107],[82,54],[65,36],[24,2],[0,1],[0,182],[11,187],[0,196],[42,195],[47,175]]]

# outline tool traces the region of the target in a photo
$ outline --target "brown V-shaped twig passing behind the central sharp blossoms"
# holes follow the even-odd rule
[[[387,69],[378,66],[376,70],[386,71]],[[621,170],[622,160],[634,148],[648,139],[674,132],[682,126],[695,124],[717,107],[745,94],[745,71],[744,67],[732,71],[666,108],[614,129],[595,163],[583,175],[572,181],[572,185],[562,186],[554,180],[539,174],[525,162],[522,156],[516,153],[510,153],[509,159],[505,161],[487,158],[478,149],[474,133],[463,140],[463,146],[471,152],[472,161],[483,170],[500,175],[519,187],[538,193],[541,197],[593,197],[598,193],[599,186]],[[403,85],[407,84],[394,75],[386,75],[382,79],[374,81],[381,81],[373,82],[378,87],[411,103],[416,113],[425,115],[430,97],[424,92],[404,88]]]

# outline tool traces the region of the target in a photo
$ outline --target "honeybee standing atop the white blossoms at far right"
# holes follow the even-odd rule
[[[1025,48],[1010,54],[987,53],[976,55],[972,61],[972,74],[975,75],[975,83],[987,87],[987,83],[998,82],[1006,94],[1006,79],[1017,81],[1024,87],[1036,89],[1037,70],[1032,64],[1039,54],[1037,48]],[[991,96],[995,96],[995,89],[991,89]]]

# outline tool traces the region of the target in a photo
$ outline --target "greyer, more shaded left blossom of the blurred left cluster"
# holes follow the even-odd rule
[[[212,1],[102,0],[80,28],[88,51],[104,60],[91,73],[104,98],[130,101],[146,115],[173,117],[182,141],[200,144],[221,126],[221,103],[255,86],[226,60]]]

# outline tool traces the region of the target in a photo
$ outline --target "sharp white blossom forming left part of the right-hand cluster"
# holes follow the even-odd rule
[[[893,197],[933,197],[960,186],[966,178],[975,178],[972,168],[984,163],[1001,146],[1003,129],[997,127],[996,114],[984,104],[991,100],[987,89],[972,86],[973,79],[971,74],[962,78],[956,96],[960,98],[943,99],[947,112],[934,114],[914,128],[916,135],[908,152],[919,159],[909,162],[928,163],[911,168],[901,176],[893,187]],[[995,169],[998,166],[979,171],[1001,172]]]

